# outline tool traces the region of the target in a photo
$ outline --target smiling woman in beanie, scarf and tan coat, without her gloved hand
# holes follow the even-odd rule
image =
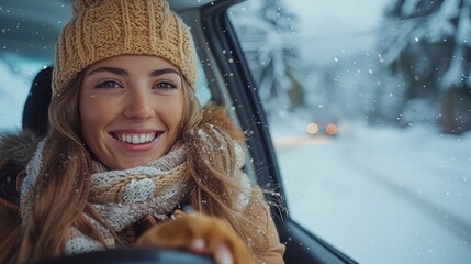
[[[19,178],[21,226],[0,262],[133,245],[189,205],[228,223],[255,260],[282,263],[267,202],[240,169],[243,134],[195,88],[191,35],[167,2],[75,0],[49,131]]]

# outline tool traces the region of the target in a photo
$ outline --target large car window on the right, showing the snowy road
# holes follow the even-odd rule
[[[290,217],[359,263],[471,258],[470,8],[251,0],[229,10]]]

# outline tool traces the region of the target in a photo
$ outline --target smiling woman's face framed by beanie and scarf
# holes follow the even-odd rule
[[[110,169],[147,164],[175,144],[183,118],[180,72],[164,58],[122,55],[90,66],[79,112],[85,140]]]

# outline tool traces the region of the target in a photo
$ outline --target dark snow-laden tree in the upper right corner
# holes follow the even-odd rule
[[[471,129],[470,10],[470,0],[394,0],[382,32],[383,63],[405,80],[405,109],[441,105],[448,133]]]

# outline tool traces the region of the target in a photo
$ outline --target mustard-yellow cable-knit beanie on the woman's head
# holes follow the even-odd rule
[[[74,0],[74,13],[56,45],[53,94],[101,59],[155,55],[197,88],[197,54],[190,31],[165,0]]]

